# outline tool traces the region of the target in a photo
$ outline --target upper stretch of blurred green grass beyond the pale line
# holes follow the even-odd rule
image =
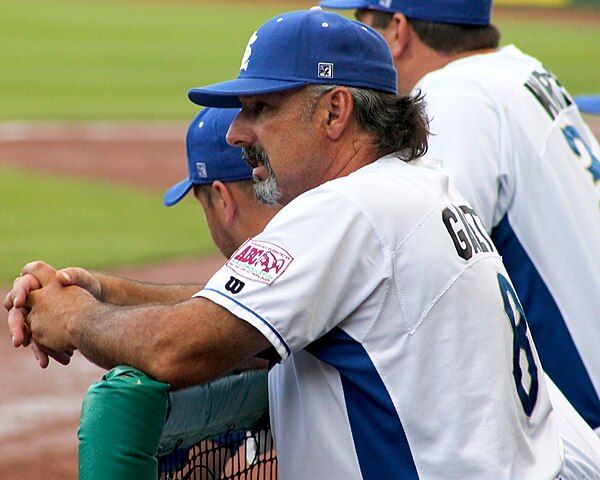
[[[3,0],[0,120],[188,119],[188,89],[237,75],[254,29],[300,5]],[[600,93],[600,28],[495,22],[503,43],[539,57],[572,94]]]

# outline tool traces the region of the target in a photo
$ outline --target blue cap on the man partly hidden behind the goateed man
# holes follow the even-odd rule
[[[225,140],[238,112],[239,109],[203,108],[192,120],[185,139],[188,178],[167,190],[163,199],[167,207],[179,202],[194,185],[252,178],[252,168],[242,157],[242,149]]]

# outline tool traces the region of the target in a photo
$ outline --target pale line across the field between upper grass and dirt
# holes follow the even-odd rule
[[[81,140],[185,141],[182,122],[0,122],[0,142]]]

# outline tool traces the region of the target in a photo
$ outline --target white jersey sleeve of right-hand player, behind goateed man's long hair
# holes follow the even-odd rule
[[[506,180],[498,161],[502,148],[499,115],[476,88],[454,87],[452,82],[427,77],[420,88],[425,93],[431,130],[425,158],[441,161],[490,232],[502,217],[497,211],[498,197],[500,183]]]

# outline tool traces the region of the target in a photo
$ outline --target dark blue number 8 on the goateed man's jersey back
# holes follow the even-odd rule
[[[498,284],[504,302],[504,311],[513,330],[513,377],[515,386],[523,411],[525,415],[530,417],[538,395],[538,370],[531,350],[531,343],[527,336],[527,320],[517,294],[508,279],[501,273],[498,274]],[[530,378],[529,388],[523,386],[522,360],[527,362],[527,373]]]

